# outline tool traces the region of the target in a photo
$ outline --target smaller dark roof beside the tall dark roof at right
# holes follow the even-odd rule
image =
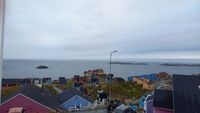
[[[154,91],[153,106],[173,110],[172,91],[156,89]]]

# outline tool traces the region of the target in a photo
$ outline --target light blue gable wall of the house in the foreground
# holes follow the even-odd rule
[[[90,105],[91,103],[85,99],[83,99],[82,97],[76,95],[74,97],[72,97],[71,99],[67,100],[66,102],[64,102],[63,104],[61,104],[61,107],[64,109],[68,109],[70,107],[75,107],[79,106],[79,107],[86,107],[88,105]]]

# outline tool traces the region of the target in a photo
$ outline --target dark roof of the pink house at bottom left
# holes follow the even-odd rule
[[[34,85],[24,86],[23,88],[21,88],[19,92],[16,92],[15,94],[2,98],[2,103],[18,94],[23,94],[24,96],[27,96],[32,100],[37,101],[38,103],[45,105],[49,108],[52,108],[54,110],[59,107],[59,104],[56,101],[55,96],[51,95],[48,91],[42,90],[42,88],[39,88]]]

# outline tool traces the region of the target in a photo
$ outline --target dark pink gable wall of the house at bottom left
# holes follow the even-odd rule
[[[8,113],[9,109],[12,107],[23,107],[26,113],[50,113],[52,110],[44,107],[37,102],[34,102],[22,95],[18,95],[15,98],[3,103],[1,106],[0,113]]]

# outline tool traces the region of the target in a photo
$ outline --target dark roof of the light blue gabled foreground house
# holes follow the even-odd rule
[[[64,92],[62,92],[61,94],[59,94],[57,96],[58,102],[60,104],[64,103],[65,101],[69,100],[70,98],[72,98],[73,96],[78,95],[82,98],[84,98],[85,100],[93,103],[94,100],[92,98],[90,98],[88,95],[84,94],[83,92],[77,90],[76,88],[70,88]]]

